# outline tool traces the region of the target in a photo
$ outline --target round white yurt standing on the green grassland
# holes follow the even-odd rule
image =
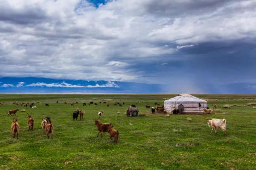
[[[167,111],[178,109],[179,113],[203,113],[204,107],[207,107],[207,101],[190,94],[180,94],[174,98],[165,100],[165,109]]]

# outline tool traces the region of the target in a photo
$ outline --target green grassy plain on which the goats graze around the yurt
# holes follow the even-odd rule
[[[127,117],[126,109],[138,101],[140,113],[144,106],[163,104],[176,94],[0,94],[0,169],[97,169],[97,170],[255,170],[256,169],[256,95],[196,95],[217,104],[213,113],[227,115],[146,114]],[[110,100],[110,107],[103,104]],[[59,101],[59,103],[56,103]],[[97,107],[82,106],[93,101]],[[37,109],[16,106],[13,102],[34,102]],[[50,106],[46,107],[44,102]],[[64,104],[67,102],[68,104]],[[74,106],[70,104],[78,102]],[[102,102],[101,104],[99,102]],[[123,107],[114,102],[125,102]],[[223,109],[229,105],[230,109]],[[12,116],[18,111],[19,139],[11,134]],[[72,112],[85,112],[82,120],[72,119]],[[97,137],[94,124],[97,113],[103,111],[102,123],[112,122],[119,131],[118,144],[108,133]],[[27,113],[35,119],[33,131],[28,131]],[[49,115],[53,122],[53,139],[47,139],[41,127],[41,117]],[[187,117],[192,118],[188,121]],[[210,133],[204,118],[225,118],[227,136],[223,131]]]

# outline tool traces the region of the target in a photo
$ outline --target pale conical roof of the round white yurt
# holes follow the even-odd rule
[[[207,101],[199,99],[190,94],[180,94],[174,98],[165,100],[165,104],[173,104],[173,103],[207,103]]]

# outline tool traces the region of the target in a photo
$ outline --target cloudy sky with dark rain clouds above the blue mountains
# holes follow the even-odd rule
[[[256,0],[0,4],[0,77],[256,89]]]

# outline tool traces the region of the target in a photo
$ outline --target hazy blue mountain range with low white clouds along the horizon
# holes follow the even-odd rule
[[[49,78],[0,78],[0,92],[17,93],[192,93],[187,89],[177,90],[178,83],[170,85],[133,83],[124,81],[60,80]],[[197,85],[205,94],[256,94],[256,84],[232,83],[224,85]]]

